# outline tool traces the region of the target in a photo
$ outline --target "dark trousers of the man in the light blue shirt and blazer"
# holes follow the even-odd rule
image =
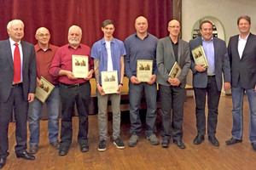
[[[194,88],[195,92],[195,115],[197,133],[206,134],[206,96],[208,105],[207,134],[213,136],[216,133],[218,122],[218,102],[220,91],[218,91],[215,77],[208,77],[207,88]]]

